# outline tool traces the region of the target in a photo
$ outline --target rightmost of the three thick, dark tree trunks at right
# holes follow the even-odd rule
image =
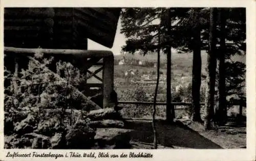
[[[218,122],[224,124],[227,119],[227,107],[226,107],[226,89],[225,89],[225,26],[226,18],[224,9],[220,11],[221,22],[221,37],[220,37],[220,53],[219,53],[219,107],[218,107]]]

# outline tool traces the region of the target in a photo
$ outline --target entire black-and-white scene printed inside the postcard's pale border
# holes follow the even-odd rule
[[[248,148],[247,16],[5,7],[4,149]]]

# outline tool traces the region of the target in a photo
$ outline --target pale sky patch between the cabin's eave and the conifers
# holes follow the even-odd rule
[[[120,34],[120,30],[121,19],[119,18],[113,47],[111,49],[106,48],[103,45],[88,39],[88,50],[110,50],[114,55],[120,55],[121,48],[123,45],[125,45],[126,40],[125,36]]]

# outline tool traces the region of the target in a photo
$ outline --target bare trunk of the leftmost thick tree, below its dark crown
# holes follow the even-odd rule
[[[200,87],[201,87],[201,30],[194,29],[194,50],[193,50],[193,70],[192,70],[192,120],[202,123],[200,115]]]

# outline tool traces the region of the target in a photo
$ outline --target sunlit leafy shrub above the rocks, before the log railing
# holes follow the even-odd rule
[[[86,76],[80,74],[71,63],[58,61],[58,77],[48,68],[52,60],[53,57],[47,58],[36,53],[27,68],[18,72],[15,80],[14,74],[5,66],[5,111],[12,114],[24,108],[36,109],[38,117],[44,118],[45,108],[61,108],[65,111],[67,108],[81,109],[89,106],[88,100],[77,93],[77,88],[79,89]],[[16,91],[14,83],[18,85]]]

